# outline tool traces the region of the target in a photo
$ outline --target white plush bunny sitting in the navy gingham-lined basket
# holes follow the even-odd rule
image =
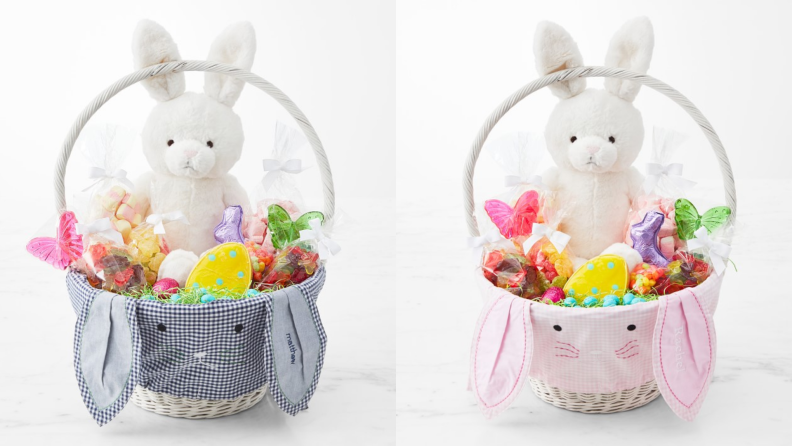
[[[256,52],[250,23],[229,26],[212,43],[207,60],[249,70]],[[142,20],[135,29],[135,68],[181,60],[170,34]],[[247,194],[228,171],[239,160],[245,140],[242,122],[231,109],[244,82],[207,72],[204,93],[184,92],[184,73],[146,79],[144,87],[158,104],[143,128],[143,152],[152,171],[136,185],[136,195],[151,214],[181,211],[189,225],[165,223],[171,249],[201,254],[215,246],[214,227],[232,205],[250,208]]]

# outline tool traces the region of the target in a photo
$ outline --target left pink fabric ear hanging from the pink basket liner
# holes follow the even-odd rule
[[[470,387],[486,418],[504,410],[520,394],[533,355],[531,304],[506,291],[484,306],[470,358]]]

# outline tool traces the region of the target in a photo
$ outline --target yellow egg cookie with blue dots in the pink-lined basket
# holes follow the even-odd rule
[[[586,296],[602,298],[608,294],[623,296],[629,281],[627,262],[621,256],[603,254],[578,268],[564,285],[564,293],[576,299]]]

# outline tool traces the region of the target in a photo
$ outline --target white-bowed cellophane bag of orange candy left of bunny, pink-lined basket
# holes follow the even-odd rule
[[[542,214],[544,223],[534,225],[535,231],[525,240],[523,249],[536,267],[539,289],[544,293],[550,287],[563,288],[574,272],[574,254],[568,246],[569,236],[562,232],[563,220],[571,218],[563,203],[546,194]]]

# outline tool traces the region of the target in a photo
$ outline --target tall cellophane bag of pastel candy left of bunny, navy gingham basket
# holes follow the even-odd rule
[[[133,130],[111,124],[88,128],[80,135],[82,152],[91,165],[89,176],[95,181],[83,191],[87,196],[78,200],[85,203],[84,209],[77,210],[78,218],[84,222],[109,218],[125,243],[146,211],[121,169],[135,138]]]

